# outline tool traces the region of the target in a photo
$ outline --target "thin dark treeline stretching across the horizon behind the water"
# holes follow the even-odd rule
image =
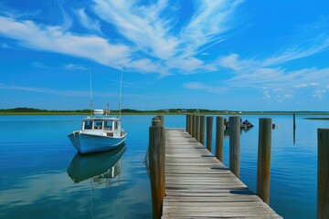
[[[164,110],[133,110],[122,109],[122,113],[329,113],[328,111],[237,111],[237,110],[205,110],[205,109],[164,109]],[[88,114],[90,110],[40,110],[35,108],[14,108],[0,109],[3,113],[81,113]],[[118,113],[119,110],[111,110],[112,113]]]

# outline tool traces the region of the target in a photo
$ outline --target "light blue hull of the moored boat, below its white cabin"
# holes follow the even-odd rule
[[[81,153],[93,153],[101,151],[110,151],[119,147],[125,141],[126,134],[120,138],[92,135],[74,131],[69,136],[73,146]]]

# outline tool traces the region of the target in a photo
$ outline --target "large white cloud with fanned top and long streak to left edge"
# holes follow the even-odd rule
[[[88,7],[72,11],[92,36],[72,31],[74,20],[62,5],[58,5],[62,17],[58,25],[37,23],[15,13],[0,16],[0,36],[16,39],[22,47],[86,57],[140,73],[165,76],[169,72],[214,71],[216,65],[196,56],[207,54],[205,48],[226,39],[236,25],[234,15],[241,3],[197,1],[195,14],[184,26],[176,26],[181,8],[172,1],[90,0]],[[101,26],[111,31],[105,34]]]

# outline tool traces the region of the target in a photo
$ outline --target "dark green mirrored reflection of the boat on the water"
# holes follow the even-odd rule
[[[121,173],[122,154],[125,144],[101,153],[82,155],[79,152],[69,164],[68,174],[74,183],[92,180],[94,183],[111,183],[111,179]]]

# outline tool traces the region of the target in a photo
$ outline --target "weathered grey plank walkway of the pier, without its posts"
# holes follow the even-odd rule
[[[186,130],[167,129],[162,218],[282,218]]]

